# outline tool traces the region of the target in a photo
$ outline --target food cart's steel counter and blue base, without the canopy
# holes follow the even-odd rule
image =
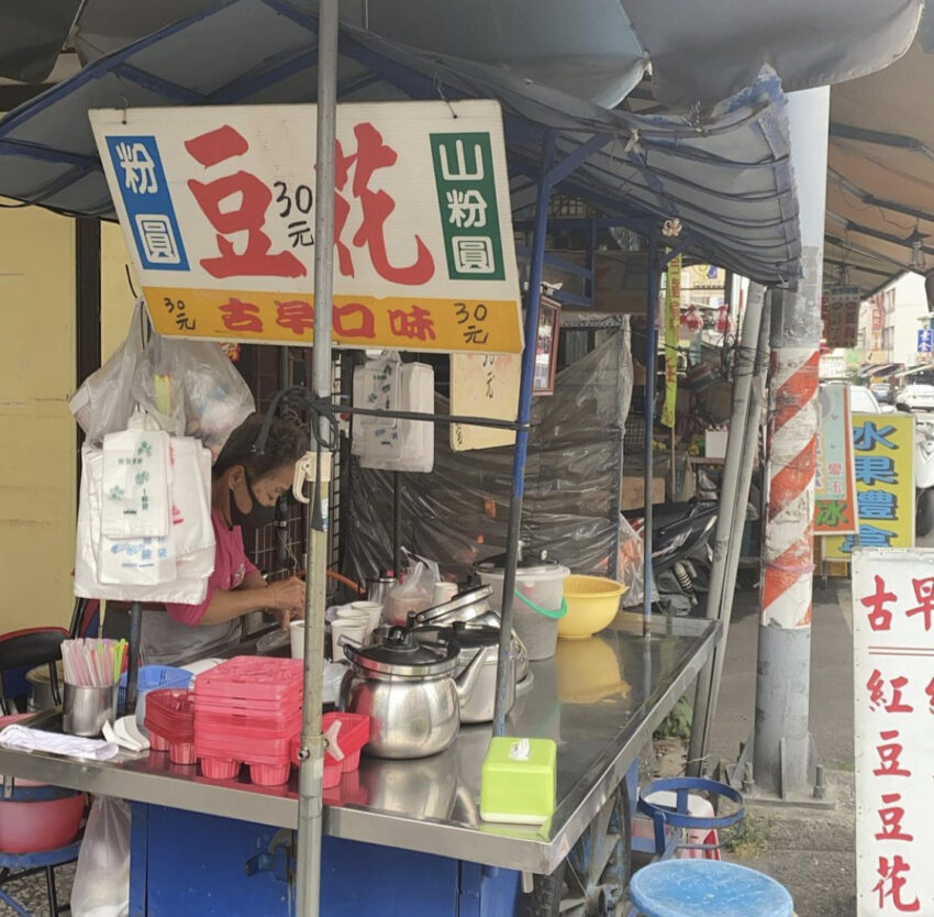
[[[581,835],[571,863],[590,870],[588,893],[618,893],[627,838],[611,815],[629,806],[614,791],[716,637],[715,622],[655,618],[646,642],[641,617],[623,612],[601,636],[532,664],[534,687],[508,725],[558,741],[557,808],[542,828],[480,820],[489,727],[463,728],[434,758],[364,758],[355,778],[325,791],[322,913],[512,914],[521,874],[554,872]],[[8,783],[29,776],[133,803],[131,917],[296,913],[294,777],[282,787],[208,781],[153,751],[90,762],[0,748],[0,771]]]

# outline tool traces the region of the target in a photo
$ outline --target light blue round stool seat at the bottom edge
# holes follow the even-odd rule
[[[641,869],[630,897],[644,917],[792,917],[783,885],[716,860],[666,860]]]

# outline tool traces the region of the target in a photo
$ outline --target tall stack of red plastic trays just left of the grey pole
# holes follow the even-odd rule
[[[253,783],[286,783],[301,701],[300,660],[237,656],[199,675],[194,754],[204,776],[231,780],[248,764]]]

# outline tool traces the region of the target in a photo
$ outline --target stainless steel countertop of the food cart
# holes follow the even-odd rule
[[[709,658],[719,626],[621,614],[586,641],[558,641],[554,660],[534,663],[531,690],[516,701],[510,734],[558,743],[557,808],[542,828],[483,822],[480,765],[489,727],[460,730],[455,745],[421,761],[364,758],[357,775],[325,793],[324,829],[348,840],[549,873],[623,778],[630,764]],[[293,828],[297,780],[281,787],[215,782],[166,754],[84,762],[0,748],[0,773],[142,803]]]

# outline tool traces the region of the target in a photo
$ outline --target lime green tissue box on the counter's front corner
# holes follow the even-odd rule
[[[522,744],[527,742],[527,756]],[[480,780],[485,821],[542,825],[555,811],[558,747],[551,739],[490,741]]]

